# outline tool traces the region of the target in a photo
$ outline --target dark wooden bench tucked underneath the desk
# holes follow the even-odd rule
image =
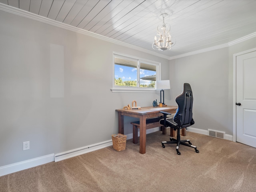
[[[166,135],[166,127],[163,126],[162,124],[159,123],[159,121],[164,118],[164,117],[158,117],[158,118],[152,118],[152,119],[147,119],[146,120],[146,130],[155,128],[155,127],[160,127],[161,131],[164,135]],[[132,124],[132,142],[134,144],[138,143],[138,128],[140,128],[140,121],[135,121],[131,122]],[[186,129],[183,128],[181,130],[181,135],[186,136]],[[175,131],[173,128],[170,128],[170,136],[175,137]]]

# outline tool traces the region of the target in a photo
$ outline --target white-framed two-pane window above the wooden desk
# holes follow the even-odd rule
[[[153,91],[159,79],[160,63],[113,54],[114,81],[113,90]]]

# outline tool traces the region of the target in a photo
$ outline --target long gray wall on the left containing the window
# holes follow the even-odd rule
[[[161,62],[162,79],[169,78],[168,60],[138,50],[2,10],[0,25],[0,166],[111,140],[115,109],[160,98],[112,93],[113,51]],[[54,45],[63,49],[60,70]],[[25,141],[30,150],[23,151]]]

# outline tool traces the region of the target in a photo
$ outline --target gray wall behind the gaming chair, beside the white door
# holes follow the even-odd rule
[[[233,54],[256,47],[256,38],[233,46],[170,60],[171,98],[191,84],[193,128],[233,135]],[[174,99],[170,104],[174,104]]]

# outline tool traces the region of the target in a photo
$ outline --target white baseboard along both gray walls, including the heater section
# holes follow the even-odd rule
[[[148,129],[148,130],[146,130],[146,134],[156,132],[159,130],[160,130],[159,127]],[[208,130],[202,130],[202,129],[188,127],[188,131],[208,135]],[[132,139],[132,133],[126,134],[126,136],[127,136],[126,139]],[[138,132],[138,136],[140,136],[140,132]],[[224,139],[232,141],[232,135],[225,134]],[[50,154],[50,155],[46,155],[46,156],[42,156],[42,157],[38,157],[38,158],[26,160],[26,161],[14,163],[14,164],[2,166],[2,167],[0,167],[0,176],[4,176],[7,174],[11,174],[11,173],[14,173],[17,171],[25,170],[28,168],[32,168],[32,167],[46,164],[46,163],[53,162],[53,161],[57,162],[60,160],[64,160],[67,158],[71,158],[71,157],[85,154],[88,152],[92,152],[95,150],[99,150],[99,149],[102,149],[102,148],[105,148],[108,146],[112,146],[112,145],[113,145],[112,140],[107,140],[105,142],[100,142],[98,144],[94,144],[94,145],[90,145],[90,146],[86,146],[86,147],[82,147],[82,148],[77,148],[74,150],[62,152],[62,153],[55,154],[55,155]]]

